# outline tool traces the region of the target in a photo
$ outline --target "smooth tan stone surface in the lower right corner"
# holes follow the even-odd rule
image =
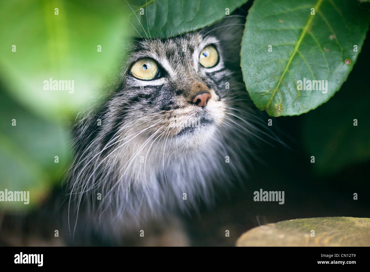
[[[236,246],[370,246],[370,218],[281,221],[250,229],[238,238]]]

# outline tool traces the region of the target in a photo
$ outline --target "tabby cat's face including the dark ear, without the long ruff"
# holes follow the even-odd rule
[[[176,138],[190,149],[212,140],[224,126],[232,99],[245,92],[235,82],[240,76],[238,27],[229,34],[227,28],[221,34],[206,28],[135,41],[114,101],[115,108],[119,103],[124,108],[124,133],[145,130],[143,138]]]

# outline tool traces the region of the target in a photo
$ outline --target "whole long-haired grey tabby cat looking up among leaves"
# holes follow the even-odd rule
[[[77,116],[73,164],[45,205],[67,245],[127,245],[244,179],[260,132],[240,68],[244,23],[132,42],[115,91]]]

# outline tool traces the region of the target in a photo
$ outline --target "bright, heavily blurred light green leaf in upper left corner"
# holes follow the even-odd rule
[[[50,120],[65,120],[101,95],[127,29],[122,1],[14,0],[1,11],[0,77],[13,98]],[[50,78],[73,80],[73,93],[44,90]]]

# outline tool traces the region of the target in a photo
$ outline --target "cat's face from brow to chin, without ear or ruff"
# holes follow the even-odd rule
[[[210,49],[203,50],[206,47]],[[225,86],[218,85],[219,73],[225,68],[222,53],[216,38],[203,38],[199,33],[140,41],[129,61],[144,72],[131,69],[125,86],[125,91],[131,92],[128,107],[132,110],[132,126],[144,129],[154,125],[148,133],[158,131],[158,135],[178,137],[191,146],[212,137],[225,111],[219,95]],[[212,60],[206,61],[212,67],[201,64],[207,54],[208,58],[212,54]],[[142,63],[135,64],[143,58],[149,58],[144,67]],[[149,69],[153,74],[158,69],[159,77],[152,80],[135,77]]]

